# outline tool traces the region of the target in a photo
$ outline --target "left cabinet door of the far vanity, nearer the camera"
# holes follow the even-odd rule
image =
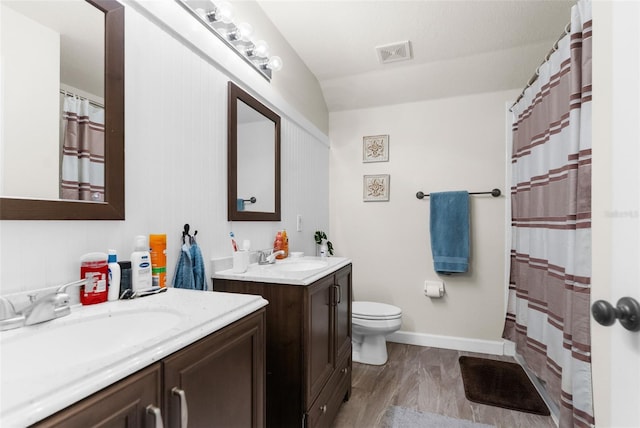
[[[333,275],[308,288],[305,302],[306,400],[315,400],[335,367],[333,340]]]

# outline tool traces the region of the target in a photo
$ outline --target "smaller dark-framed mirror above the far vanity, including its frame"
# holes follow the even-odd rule
[[[280,221],[280,116],[229,82],[228,219]]]

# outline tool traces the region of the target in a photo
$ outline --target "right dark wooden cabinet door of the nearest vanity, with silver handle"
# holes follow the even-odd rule
[[[261,309],[164,360],[165,426],[180,427],[185,410],[190,427],[264,426],[264,314]]]

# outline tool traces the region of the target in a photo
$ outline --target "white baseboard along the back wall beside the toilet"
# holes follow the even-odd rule
[[[512,355],[504,340],[469,339],[466,337],[440,336],[436,334],[397,331],[387,336],[389,342],[406,345],[428,346],[453,349],[456,351],[478,352],[490,355]]]

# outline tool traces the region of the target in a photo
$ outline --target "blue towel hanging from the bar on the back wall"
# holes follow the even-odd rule
[[[429,201],[435,271],[466,272],[469,268],[469,192],[431,193]]]

